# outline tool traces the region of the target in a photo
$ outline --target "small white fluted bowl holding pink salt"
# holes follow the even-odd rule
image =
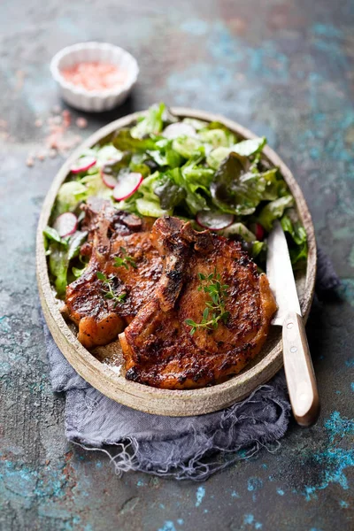
[[[63,68],[90,61],[110,63],[122,68],[127,72],[127,81],[112,89],[87,90],[69,83],[61,74]],[[119,46],[108,42],[80,42],[58,51],[51,59],[50,72],[67,104],[81,111],[103,112],[124,102],[136,83],[139,67],[135,58]]]

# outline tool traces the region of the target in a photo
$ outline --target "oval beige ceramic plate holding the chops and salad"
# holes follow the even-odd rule
[[[183,108],[174,108],[172,111],[179,117],[190,117],[206,121],[217,120],[225,124],[225,126],[231,129],[231,131],[234,131],[238,136],[243,138],[255,137],[250,131],[234,121],[209,112]],[[155,389],[125,379],[120,368],[122,358],[118,341],[106,347],[98,348],[93,353],[86,350],[77,340],[75,328],[72,325],[68,325],[63,319],[59,311],[58,302],[50,287],[42,231],[48,224],[51,208],[58,194],[58,189],[67,177],[70,165],[81,155],[83,149],[109,139],[110,135],[117,129],[132,125],[139,115],[141,113],[131,114],[125,118],[118,119],[90,136],[65,162],[65,165],[62,166],[50,187],[50,191],[42,207],[36,244],[37,279],[42,310],[50,332],[65,358],[81,374],[82,378],[89,381],[92,386],[104,393],[104,395],[109,396],[120,404],[125,404],[142,412],[158,415],[189,416],[215,412],[248,396],[258,385],[268,381],[281,368],[280,327],[271,327],[266,345],[260,354],[258,354],[242,373],[235,375],[228,381],[204,389],[174,391]],[[285,181],[287,181],[292,195],[295,197],[298,216],[308,236],[309,255],[306,271],[296,278],[296,287],[301,309],[304,319],[307,319],[312,304],[316,275],[316,242],[311,215],[304,201],[301,189],[297,185],[289,168],[269,147],[264,149],[264,154],[273,165],[280,167],[281,173]]]

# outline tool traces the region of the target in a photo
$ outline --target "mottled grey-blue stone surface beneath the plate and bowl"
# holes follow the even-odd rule
[[[337,0],[3,0],[0,10],[0,528],[4,531],[332,531],[353,528],[354,3]],[[308,326],[322,398],[315,427],[204,484],[114,474],[65,442],[35,286],[35,225],[63,158],[35,161],[58,103],[51,56],[89,39],[141,65],[123,108],[156,100],[220,112],[266,135],[300,182],[342,289]],[[75,114],[79,116],[79,114]],[[10,137],[8,136],[10,135]],[[350,497],[351,488],[351,497]]]

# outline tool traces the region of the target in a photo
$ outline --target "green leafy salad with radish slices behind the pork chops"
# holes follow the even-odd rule
[[[242,140],[219,122],[179,119],[157,104],[134,127],[84,150],[58,191],[44,231],[58,296],[87,265],[80,254],[87,238],[81,204],[89,196],[138,216],[173,215],[190,220],[196,230],[238,239],[261,268],[266,235],[280,219],[293,267],[304,266],[306,233],[279,169],[262,156],[265,145],[265,137]]]

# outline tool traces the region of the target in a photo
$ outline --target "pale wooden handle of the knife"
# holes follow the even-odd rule
[[[319,392],[304,321],[296,312],[282,326],[282,351],[294,417],[300,426],[310,426],[319,416]]]

